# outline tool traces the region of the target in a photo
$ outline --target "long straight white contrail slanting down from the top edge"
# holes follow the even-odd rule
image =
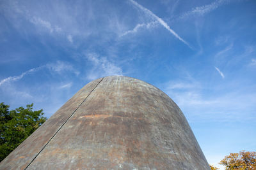
[[[136,1],[134,0],[130,0],[132,4],[134,4],[134,6],[140,8],[140,10],[143,10],[145,13],[147,13],[148,16],[150,16],[151,18],[153,18],[154,20],[157,20],[157,22],[159,22],[159,24],[163,25],[164,28],[166,28],[169,32],[171,32],[173,34],[173,36],[175,36],[177,39],[179,39],[180,41],[182,41],[185,45],[189,46],[189,48],[192,48],[189,43],[187,41],[185,41],[184,39],[182,39],[175,31],[173,31],[170,26],[164,22],[164,20],[162,18],[157,17],[157,15],[155,15],[154,13],[152,13],[152,11],[148,10],[147,8],[141,6],[141,4],[138,4]]]

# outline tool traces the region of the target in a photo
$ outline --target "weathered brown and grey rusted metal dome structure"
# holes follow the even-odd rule
[[[0,168],[210,169],[182,111],[164,92],[124,76],[100,80],[83,88],[91,93],[81,105],[79,91]]]

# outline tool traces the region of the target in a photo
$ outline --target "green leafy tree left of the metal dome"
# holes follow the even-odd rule
[[[33,111],[33,103],[27,108],[9,108],[0,103],[0,161],[47,120],[43,110]]]

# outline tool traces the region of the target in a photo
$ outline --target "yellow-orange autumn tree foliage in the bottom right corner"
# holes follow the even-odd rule
[[[225,166],[225,169],[256,169],[256,152],[230,153],[220,164]]]

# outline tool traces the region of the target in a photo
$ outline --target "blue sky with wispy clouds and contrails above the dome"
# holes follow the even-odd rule
[[[256,149],[253,0],[1,1],[0,101],[46,117],[111,75],[163,90],[210,164]]]

